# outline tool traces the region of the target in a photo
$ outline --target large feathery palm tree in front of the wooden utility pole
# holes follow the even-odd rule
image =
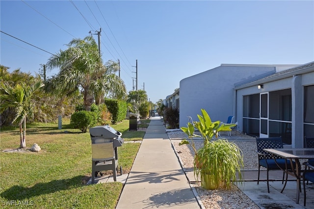
[[[83,94],[86,110],[90,110],[94,95],[99,98],[107,93],[126,95],[126,87],[114,73],[117,64],[109,61],[103,64],[98,46],[93,37],[73,39],[65,51],[60,50],[49,59],[47,69],[60,68],[56,76],[48,79],[47,89],[59,95],[69,95],[78,90]]]

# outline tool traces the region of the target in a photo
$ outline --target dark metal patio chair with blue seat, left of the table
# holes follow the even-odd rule
[[[263,149],[280,149],[284,148],[282,138],[280,137],[270,137],[270,138],[256,138],[256,144],[257,144],[257,153],[259,157],[259,173],[258,173],[258,180],[257,184],[260,182],[260,168],[261,166],[267,169],[267,189],[269,193],[269,178],[268,178],[268,171],[269,170],[285,170],[285,169],[290,169],[291,170],[291,165],[290,165],[290,160],[286,160],[282,157],[279,156],[274,156],[274,157],[267,152],[264,152]],[[295,162],[293,162],[295,163]],[[278,167],[280,166],[280,167]],[[284,183],[285,179],[285,172],[283,174],[283,182]],[[286,183],[288,180],[288,173],[286,173]],[[284,188],[286,186],[286,183],[284,185]],[[281,192],[283,192],[284,188],[282,189]]]

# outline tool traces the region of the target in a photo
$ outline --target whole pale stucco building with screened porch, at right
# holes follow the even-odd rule
[[[261,85],[261,88],[258,88]],[[177,98],[178,99],[178,98]],[[303,147],[314,137],[314,62],[304,65],[222,64],[180,81],[180,127],[201,108],[213,121],[235,116],[236,129],[283,137]]]

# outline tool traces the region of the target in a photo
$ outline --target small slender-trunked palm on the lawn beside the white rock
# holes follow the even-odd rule
[[[26,118],[32,114],[34,93],[44,86],[40,80],[35,84],[26,85],[25,82],[17,83],[14,87],[1,82],[0,112],[8,108],[14,108],[16,111],[12,123],[17,121],[20,127],[20,148],[26,148]],[[24,123],[24,130],[22,124]]]

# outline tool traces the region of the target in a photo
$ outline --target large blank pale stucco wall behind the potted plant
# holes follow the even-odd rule
[[[184,78],[180,81],[180,127],[186,127],[187,116],[198,121],[201,108],[209,113],[212,121],[227,122],[228,116],[235,116],[234,84],[268,72],[275,72],[275,66],[221,65]]]

